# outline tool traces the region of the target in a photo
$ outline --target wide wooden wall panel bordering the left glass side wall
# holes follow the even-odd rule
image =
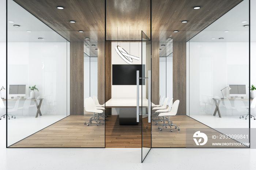
[[[70,115],[84,112],[83,42],[70,43]]]

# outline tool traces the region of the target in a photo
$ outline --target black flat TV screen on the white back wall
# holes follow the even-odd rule
[[[145,77],[145,65],[113,64],[112,85],[136,85],[137,70],[140,71],[139,77]],[[145,79],[140,79],[139,84],[145,85]]]

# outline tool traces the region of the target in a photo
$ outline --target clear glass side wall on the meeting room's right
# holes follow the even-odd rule
[[[187,115],[227,135],[240,130],[248,135],[249,121],[253,121],[248,116],[251,84],[246,25],[249,0],[187,42]]]

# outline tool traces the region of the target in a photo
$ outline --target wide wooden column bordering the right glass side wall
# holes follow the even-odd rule
[[[186,42],[173,42],[173,102],[175,100],[180,100],[177,115],[186,115]]]

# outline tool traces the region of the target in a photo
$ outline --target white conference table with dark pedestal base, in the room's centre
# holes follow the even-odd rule
[[[143,104],[143,105],[142,105]],[[151,103],[152,107],[155,107],[154,103]],[[137,122],[137,111],[136,111],[136,98],[110,98],[105,103],[106,108],[116,108],[119,112],[119,124],[120,125],[131,125],[139,123]],[[147,98],[139,98],[139,107],[147,108]],[[142,109],[140,109],[141,112]],[[147,110],[147,109],[146,109]],[[145,112],[147,112],[145,110]]]

